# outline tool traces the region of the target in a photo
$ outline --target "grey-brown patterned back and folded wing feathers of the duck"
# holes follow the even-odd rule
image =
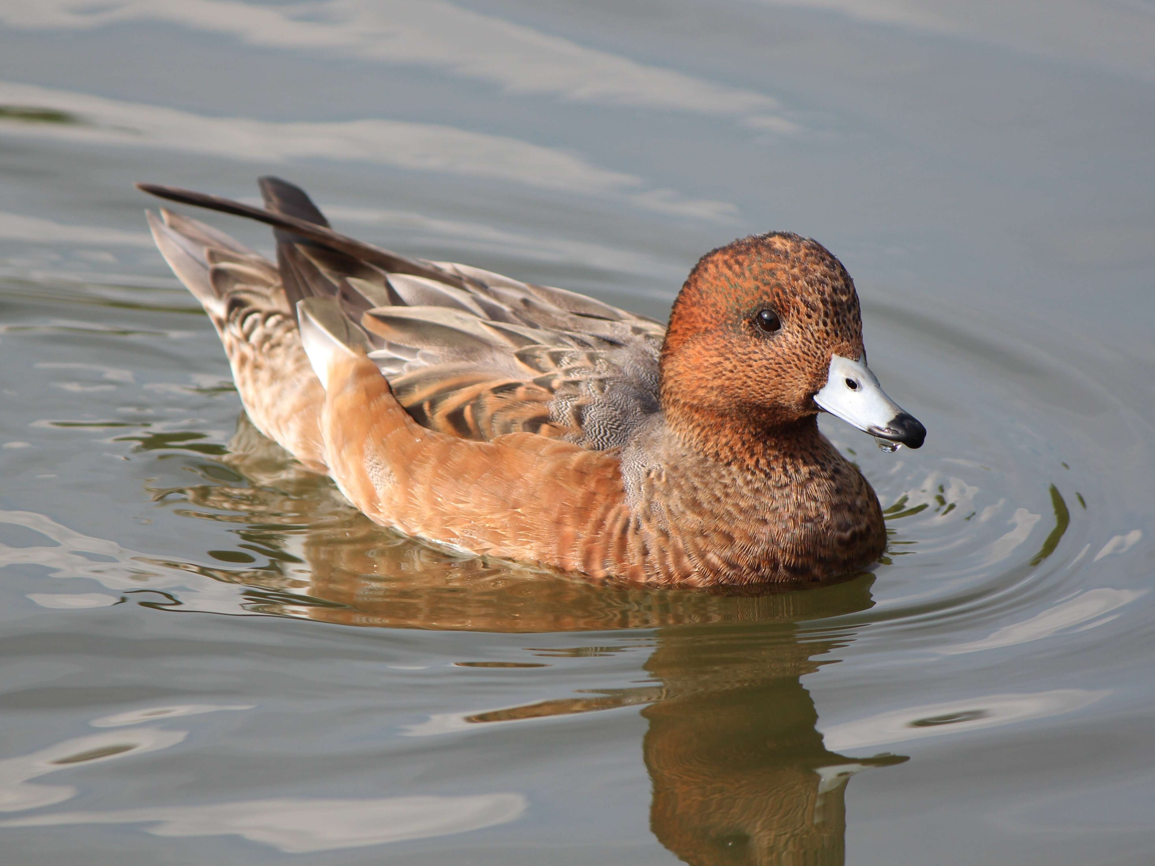
[[[430,262],[445,277],[415,276],[284,246],[278,257],[292,262],[303,297],[341,300],[423,426],[474,440],[538,433],[605,450],[657,411],[665,329],[656,322],[464,264]]]

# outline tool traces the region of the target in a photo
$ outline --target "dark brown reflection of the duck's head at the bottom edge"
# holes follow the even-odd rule
[[[685,863],[844,863],[847,781],[906,759],[855,759],[824,747],[799,678],[836,644],[799,641],[790,620],[869,605],[869,582],[839,588],[837,598],[827,593],[821,612],[792,605],[805,595],[796,592],[758,626],[658,633],[646,667],[664,694],[642,710],[650,829]]]

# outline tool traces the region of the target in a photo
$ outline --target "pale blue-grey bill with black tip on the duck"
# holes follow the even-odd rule
[[[826,385],[814,395],[820,409],[878,439],[918,448],[926,427],[886,396],[878,379],[863,361],[835,354]]]

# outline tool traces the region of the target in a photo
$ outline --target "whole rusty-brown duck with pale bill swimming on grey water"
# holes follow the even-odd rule
[[[870,483],[818,428],[925,427],[866,365],[854,281],[791,232],[703,255],[669,322],[331,229],[299,187],[263,208],[276,261],[148,212],[213,321],[252,423],[382,527],[461,552],[657,587],[822,582],[882,555]]]

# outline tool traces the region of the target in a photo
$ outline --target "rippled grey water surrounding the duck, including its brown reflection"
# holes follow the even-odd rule
[[[1143,0],[0,2],[0,860],[1155,860],[1152,45]],[[930,432],[822,421],[887,555],[733,597],[374,527],[132,187],[266,173],[655,318],[819,239]]]

